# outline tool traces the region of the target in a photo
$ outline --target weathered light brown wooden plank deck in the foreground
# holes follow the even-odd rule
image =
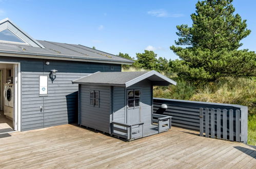
[[[131,142],[70,124],[16,132],[0,157],[0,168],[256,168],[253,147],[173,127]]]

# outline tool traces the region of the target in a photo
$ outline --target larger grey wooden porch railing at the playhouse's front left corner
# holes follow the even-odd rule
[[[117,121],[112,121],[112,135],[122,137],[127,140],[133,140],[143,137],[143,122],[127,124]]]

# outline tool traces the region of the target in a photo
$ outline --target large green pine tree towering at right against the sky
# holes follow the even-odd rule
[[[238,50],[250,34],[246,20],[234,13],[231,0],[206,0],[196,4],[192,27],[177,26],[179,36],[170,49],[182,60],[171,62],[181,77],[213,81],[223,76],[255,76],[256,54]]]

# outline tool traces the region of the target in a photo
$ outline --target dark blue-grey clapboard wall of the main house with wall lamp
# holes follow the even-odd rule
[[[78,85],[72,80],[97,71],[121,71],[121,65],[66,60],[0,57],[0,61],[21,63],[21,130],[40,129],[77,121]],[[49,61],[49,65],[45,65]],[[53,81],[48,76],[48,96],[39,96],[39,76],[58,70]],[[41,110],[40,107],[43,109]]]

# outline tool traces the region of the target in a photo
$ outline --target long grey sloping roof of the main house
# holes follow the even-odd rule
[[[123,57],[109,54],[103,51],[94,50],[82,45],[55,43],[45,40],[37,40],[45,48],[38,48],[26,45],[17,44],[5,44],[0,43],[0,52],[16,52],[18,54],[34,54],[44,56],[63,56],[73,57],[79,59],[95,59],[95,60],[107,60],[107,61],[118,61],[124,62],[124,64],[132,63],[132,60],[125,59]]]

